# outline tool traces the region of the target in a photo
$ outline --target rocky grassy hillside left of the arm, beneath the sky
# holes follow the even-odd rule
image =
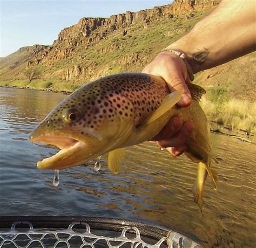
[[[189,31],[215,5],[214,1],[194,2],[179,0],[109,18],[82,18],[60,31],[52,45],[22,47],[1,59],[1,85],[72,91],[103,75],[141,71],[163,47]],[[28,68],[39,72],[38,79],[29,85],[25,75]]]

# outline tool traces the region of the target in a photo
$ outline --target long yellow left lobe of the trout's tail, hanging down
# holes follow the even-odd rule
[[[204,192],[204,185],[205,180],[207,177],[207,166],[203,162],[198,163],[198,172],[197,172],[197,181],[193,188],[194,194],[194,202],[199,206],[201,213],[203,215],[203,192]]]

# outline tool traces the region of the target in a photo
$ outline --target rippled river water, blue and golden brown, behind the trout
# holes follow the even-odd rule
[[[193,202],[197,166],[184,155],[173,159],[154,142],[127,149],[117,175],[95,161],[54,172],[36,162],[56,153],[32,144],[37,124],[66,95],[31,89],[0,88],[0,215],[104,216],[164,226],[206,247],[256,247],[256,146],[212,134],[219,164],[218,190],[207,180],[204,216]],[[251,137],[254,139],[255,137]]]

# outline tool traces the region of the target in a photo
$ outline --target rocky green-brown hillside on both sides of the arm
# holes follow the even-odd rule
[[[218,2],[176,0],[173,4],[134,13],[126,11],[109,18],[82,18],[60,31],[50,46],[22,47],[0,58],[0,85],[71,92],[104,75],[141,71]],[[208,113],[212,119],[219,118],[215,112],[219,113],[220,108],[225,112],[223,106],[228,100],[255,102],[255,60],[255,53],[248,54],[196,75],[195,82],[206,88],[206,104],[211,101],[215,105],[214,114]],[[250,116],[255,111],[256,105]]]

